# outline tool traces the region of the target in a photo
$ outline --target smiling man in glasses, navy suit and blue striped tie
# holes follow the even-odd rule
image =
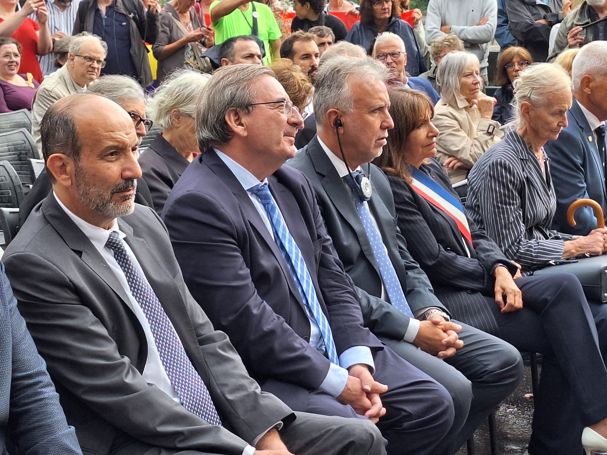
[[[389,455],[431,453],[452,400],[363,327],[310,181],[283,166],[303,123],[272,70],[214,73],[196,115],[202,153],[164,204],[175,256],[262,390],[299,411],[370,419]]]

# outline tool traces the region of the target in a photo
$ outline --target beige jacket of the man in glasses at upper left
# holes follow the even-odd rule
[[[67,70],[67,64],[42,79],[42,84],[38,87],[32,101],[32,136],[36,141],[40,158],[42,158],[42,141],[40,139],[42,116],[58,99],[81,91],[76,90],[76,83]]]

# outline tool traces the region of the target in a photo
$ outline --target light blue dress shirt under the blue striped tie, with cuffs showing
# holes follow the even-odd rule
[[[241,166],[239,163],[236,163],[236,161],[232,160],[232,158],[228,157],[228,155],[220,150],[215,149],[215,153],[217,153],[217,156],[223,161],[223,163],[226,164],[226,166],[228,166],[229,170],[231,170],[234,177],[237,178],[245,190],[248,190],[259,183],[266,183],[268,181],[268,179],[265,178],[262,182],[260,182],[257,180],[257,177],[251,174],[251,172],[245,169],[245,167]],[[268,218],[268,215],[266,214],[266,211],[263,208],[259,198],[251,191],[247,191],[246,194],[248,194],[249,198],[253,202],[253,205],[257,209],[257,212],[259,212],[260,217],[262,217],[263,223],[268,228],[270,235],[272,238],[274,238],[272,223],[270,218]],[[278,207],[278,204],[276,204],[276,206]],[[280,212],[280,207],[278,207],[278,211]],[[282,216],[282,212],[280,212],[280,216]],[[313,315],[311,314],[310,309],[306,308],[306,310],[308,320],[310,320],[310,345],[324,355],[325,343],[320,335],[320,328],[316,322],[316,319],[314,319]],[[348,381],[347,368],[350,368],[350,366],[355,365],[356,363],[364,363],[371,368],[371,372],[375,371],[375,362],[373,362],[373,355],[371,354],[371,349],[369,349],[368,346],[352,346],[351,348],[348,348],[342,352],[341,356],[339,356],[339,365],[331,363],[327,376],[322,384],[320,384],[320,389],[327,392],[331,396],[339,396],[339,394],[344,391],[345,385]]]

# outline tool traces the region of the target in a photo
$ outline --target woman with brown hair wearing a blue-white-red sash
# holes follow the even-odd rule
[[[430,99],[406,88],[389,93],[395,127],[374,163],[388,175],[407,249],[454,318],[544,355],[526,454],[581,453],[582,431],[590,447],[607,417],[607,370],[582,286],[570,274],[521,277],[433,159],[439,132]]]

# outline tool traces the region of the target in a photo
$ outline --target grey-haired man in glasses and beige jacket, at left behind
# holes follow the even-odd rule
[[[82,93],[95,81],[106,64],[107,44],[96,35],[79,33],[70,42],[67,63],[42,80],[32,103],[32,136],[42,153],[40,121],[55,101],[72,93]],[[39,156],[41,158],[41,156]]]

